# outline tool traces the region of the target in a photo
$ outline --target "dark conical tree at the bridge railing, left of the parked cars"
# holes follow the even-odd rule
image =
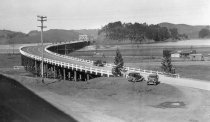
[[[114,60],[114,64],[116,65],[113,69],[112,69],[112,73],[114,76],[121,76],[121,70],[124,66],[124,61],[122,58],[122,55],[119,51],[119,49],[116,50],[116,56],[115,56],[115,60]]]

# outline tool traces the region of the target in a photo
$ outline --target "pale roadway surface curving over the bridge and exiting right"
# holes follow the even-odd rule
[[[40,56],[40,57],[42,56],[41,46],[27,46],[27,47],[23,47],[22,50],[36,56]],[[65,63],[77,64],[84,67],[85,66],[93,67],[97,69],[111,71],[111,67],[97,67],[97,66],[94,66],[93,64],[84,63],[84,62],[56,56],[46,51],[44,51],[44,57],[48,59],[56,60],[56,61],[65,62]],[[144,76],[146,77],[146,75]],[[165,76],[160,76],[160,80],[161,82],[167,83],[167,84],[175,84],[175,85],[187,86],[187,87],[198,88],[198,89],[203,89],[203,90],[210,90],[210,81],[201,81],[201,80],[187,79],[187,78],[171,78],[171,77],[165,77]]]

